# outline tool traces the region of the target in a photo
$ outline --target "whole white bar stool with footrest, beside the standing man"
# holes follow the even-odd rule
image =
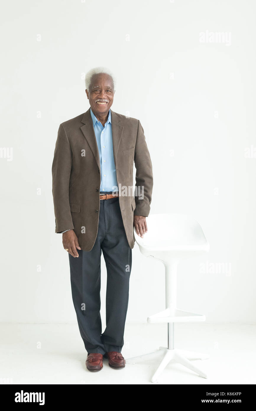
[[[205,372],[191,363],[191,359],[204,360],[207,354],[174,348],[174,323],[205,321],[205,315],[183,311],[176,307],[177,266],[180,259],[197,256],[209,251],[209,244],[200,224],[185,214],[153,214],[147,217],[148,233],[139,237],[134,229],[134,237],[141,253],[164,264],[165,267],[165,305],[164,311],[148,317],[148,323],[168,323],[168,346],[159,347],[153,353],[128,358],[127,364],[135,364],[141,359],[151,359],[161,354],[164,358],[152,376],[155,382],[171,360],[207,378]],[[162,229],[164,228],[164,230]]]

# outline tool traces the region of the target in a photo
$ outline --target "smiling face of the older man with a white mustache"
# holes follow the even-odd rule
[[[90,90],[85,90],[92,111],[97,116],[107,115],[113,104],[115,91],[113,81],[108,74],[95,74],[92,77]]]

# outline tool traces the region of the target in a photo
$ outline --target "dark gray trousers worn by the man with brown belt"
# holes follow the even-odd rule
[[[100,316],[101,250],[107,270],[106,329],[103,333]],[[71,292],[85,349],[88,353],[121,352],[132,250],[126,238],[118,197],[100,200],[95,245],[91,251],[77,251],[78,258],[69,254]]]

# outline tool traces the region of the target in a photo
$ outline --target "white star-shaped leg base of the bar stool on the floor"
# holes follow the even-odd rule
[[[154,358],[159,356],[161,354],[162,356],[164,355],[163,359],[161,360],[161,363],[159,364],[155,374],[152,376],[151,382],[154,383],[157,381],[159,375],[161,372],[164,371],[165,367],[169,364],[170,361],[175,360],[177,363],[180,363],[184,365],[185,367],[191,369],[192,371],[196,372],[200,377],[202,378],[207,378],[207,375],[205,372],[203,372],[200,368],[196,367],[193,363],[191,363],[190,360],[206,360],[209,358],[207,354],[204,353],[196,353],[194,351],[185,351],[185,350],[180,350],[180,349],[173,349],[169,350],[167,347],[159,347],[159,350],[154,351],[153,353],[148,353],[148,354],[143,354],[141,356],[133,357],[133,358],[128,358],[125,360],[126,364],[136,364],[136,362],[139,362],[141,359],[149,360],[150,358]]]

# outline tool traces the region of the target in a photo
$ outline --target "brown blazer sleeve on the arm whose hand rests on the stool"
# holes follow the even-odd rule
[[[150,154],[140,120],[138,120],[134,163],[136,167],[136,191],[134,196],[136,208],[134,215],[148,217],[153,189],[153,173]]]

